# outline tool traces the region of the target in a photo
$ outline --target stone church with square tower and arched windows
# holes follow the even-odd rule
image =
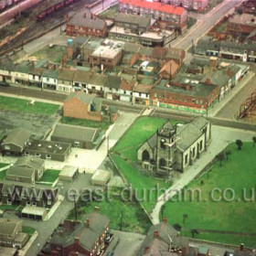
[[[184,172],[207,149],[210,137],[211,124],[204,117],[176,126],[167,122],[138,149],[138,161],[158,176]]]

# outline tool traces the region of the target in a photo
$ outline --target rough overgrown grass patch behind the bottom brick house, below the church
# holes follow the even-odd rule
[[[100,213],[111,220],[111,228],[120,229],[123,211],[123,231],[145,234],[152,224],[144,210],[137,202],[123,201],[120,198],[120,191],[115,190],[114,192],[110,191],[110,199],[107,199],[108,197],[105,195],[101,202],[80,203],[79,219],[84,219],[85,213],[93,212],[95,207],[99,207]],[[74,210],[71,211],[69,219],[74,219]]]

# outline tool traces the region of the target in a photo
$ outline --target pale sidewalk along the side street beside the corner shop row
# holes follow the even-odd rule
[[[224,97],[222,101],[219,101],[212,109],[208,111],[209,117],[214,117],[242,90],[247,83],[253,79],[255,73],[249,71],[242,80]]]

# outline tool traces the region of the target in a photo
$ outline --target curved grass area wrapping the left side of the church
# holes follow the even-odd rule
[[[167,188],[171,184],[165,183],[162,179],[156,179],[153,176],[145,176],[140,173],[135,165],[137,150],[164,123],[166,123],[165,119],[141,117],[133,123],[129,131],[123,135],[121,140],[112,149],[113,161],[122,171],[127,182],[136,189],[138,197],[144,198],[142,204],[148,212],[151,212],[155,207],[156,193],[153,193],[151,199],[149,199],[150,195],[144,193],[144,191],[149,191],[149,189],[155,188],[157,185],[159,188]],[[125,161],[123,157],[128,161]]]

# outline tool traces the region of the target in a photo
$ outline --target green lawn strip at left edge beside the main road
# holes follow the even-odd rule
[[[29,102],[27,100],[0,96],[0,110],[52,115],[59,109],[59,105],[57,104],[36,101],[32,105]]]

